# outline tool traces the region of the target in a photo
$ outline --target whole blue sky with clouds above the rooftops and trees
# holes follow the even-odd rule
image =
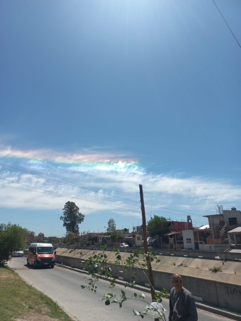
[[[241,43],[241,2],[215,2]],[[241,48],[212,0],[3,0],[0,10],[1,223],[63,235],[71,200],[80,231],[104,231],[109,218],[132,228],[139,183],[159,206],[146,205],[147,221],[188,212],[200,226],[216,204],[241,209]]]

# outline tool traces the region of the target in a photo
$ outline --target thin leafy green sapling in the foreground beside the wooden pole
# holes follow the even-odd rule
[[[88,289],[96,293],[97,282],[101,276],[104,276],[107,280],[109,280],[110,288],[113,288],[115,286],[115,275],[112,275],[112,265],[120,266],[120,269],[123,271],[128,269],[132,269],[132,271],[134,271],[135,269],[138,269],[139,273],[145,274],[147,282],[149,282],[151,285],[151,282],[149,280],[147,257],[149,257],[150,262],[160,262],[160,260],[155,256],[154,252],[145,254],[143,249],[141,248],[138,251],[135,251],[134,253],[130,253],[130,256],[123,262],[119,249],[114,248],[114,251],[116,258],[112,261],[108,259],[105,251],[102,251],[99,254],[93,252],[92,256],[90,256],[85,261],[82,261],[82,263],[85,263],[90,268],[90,282],[88,283],[88,285],[81,285],[82,289]],[[133,273],[133,275],[135,274],[137,274],[137,272]],[[136,282],[134,281],[133,276],[133,279],[131,281],[125,283],[125,287],[132,288],[133,286],[135,286],[135,284]],[[156,303],[161,303],[163,297],[167,297],[166,289],[163,289],[163,291],[155,291]],[[105,305],[109,306],[111,303],[116,303],[119,305],[120,308],[122,307],[122,304],[124,302],[129,300],[141,300],[145,304],[149,304],[149,306],[146,306],[146,308],[143,311],[138,311],[135,308],[133,308],[134,315],[143,318],[145,315],[156,313],[157,316],[155,317],[155,320],[166,320],[164,315],[164,309],[158,307],[156,309],[156,305],[153,306],[150,304],[150,302],[147,302],[146,296],[143,292],[140,294],[134,293],[133,297],[130,297],[123,290],[121,290],[119,294],[114,294],[110,290],[110,292],[103,295],[102,299],[102,301],[105,302]]]

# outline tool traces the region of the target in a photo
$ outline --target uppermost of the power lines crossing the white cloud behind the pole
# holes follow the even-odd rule
[[[85,190],[88,190],[88,191],[91,191],[91,192],[100,193],[100,194],[103,194],[103,195],[108,195],[108,196],[120,198],[120,199],[123,199],[123,200],[125,200],[125,201],[135,202],[135,203],[138,203],[138,204],[140,203],[140,201],[130,200],[130,199],[128,199],[128,198],[124,198],[124,197],[121,197],[121,196],[116,196],[116,195],[112,195],[112,194],[107,194],[107,193],[103,193],[103,192],[100,192],[100,191],[95,191],[95,190],[90,189],[90,188],[81,187],[81,186],[77,186],[77,185],[74,185],[74,184],[66,183],[66,182],[60,181],[60,180],[58,180],[58,179],[49,178],[49,177],[46,177],[46,176],[43,176],[43,175],[31,173],[31,172],[29,172],[29,171],[27,171],[27,170],[19,169],[19,168],[12,167],[12,166],[9,166],[9,165],[6,165],[6,164],[0,163],[0,165],[6,166],[6,167],[9,167],[9,168],[12,168],[12,169],[20,170],[20,171],[22,171],[22,172],[25,172],[25,173],[28,173],[28,174],[31,174],[31,175],[35,175],[35,176],[38,176],[38,177],[46,178],[46,179],[49,179],[49,180],[52,180],[52,181],[55,181],[55,182],[58,182],[58,183],[61,183],[61,184],[66,184],[66,185],[70,185],[70,186],[73,186],[73,187],[82,188],[82,189],[85,189]],[[36,188],[36,187],[34,187],[34,188]],[[71,197],[71,196],[70,196],[70,197]],[[162,207],[162,206],[157,206],[157,205],[152,205],[152,204],[147,204],[147,203],[145,203],[145,205],[154,206],[154,207],[158,207],[158,208],[162,208],[162,209],[169,210],[169,211],[174,211],[174,212],[180,212],[180,213],[186,213],[186,214],[191,214],[191,215],[202,216],[202,215],[200,215],[200,214],[195,214],[195,213],[190,213],[190,212],[184,212],[184,211],[180,211],[180,210],[174,210],[174,209],[170,209],[170,208],[166,208],[166,207]]]

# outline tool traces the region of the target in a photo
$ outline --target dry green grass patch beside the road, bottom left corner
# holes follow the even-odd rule
[[[30,320],[32,314],[39,315],[42,320],[72,321],[56,302],[27,284],[7,266],[0,266],[0,280],[1,321],[20,317]]]

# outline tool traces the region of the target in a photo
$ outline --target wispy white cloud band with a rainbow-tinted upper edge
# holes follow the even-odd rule
[[[46,190],[47,194],[34,193],[31,191],[14,189],[0,186],[0,204],[6,208],[22,209],[61,209],[63,204],[69,200],[68,197],[49,195],[50,191],[64,195],[73,196],[85,200],[96,202],[111,203],[116,205],[137,207],[137,212],[131,212],[129,209],[124,211],[115,207],[100,205],[93,202],[76,199],[76,204],[86,215],[97,212],[114,211],[121,215],[140,216],[138,203],[128,202],[101,193],[95,193],[87,190],[92,189],[106,194],[121,196],[126,199],[139,201],[139,184],[143,184],[145,202],[162,207],[174,208],[181,211],[206,214],[207,211],[213,211],[215,204],[223,204],[224,207],[231,207],[234,204],[240,204],[241,187],[227,183],[220,179],[205,177],[185,177],[180,173],[159,173],[154,174],[124,158],[118,160],[118,156],[112,154],[108,160],[100,154],[95,155],[98,162],[85,162],[89,159],[88,155],[66,154],[58,156],[55,151],[12,151],[11,148],[1,151],[1,162],[8,160],[8,164],[16,165],[18,157],[24,157],[21,160],[25,170],[58,180],[49,180],[47,178],[23,173],[17,170],[7,168],[0,169],[0,177],[16,181],[21,184],[38,187]],[[41,154],[41,155],[40,155]],[[24,155],[24,156],[23,156]],[[50,156],[49,156],[50,155]],[[40,157],[41,160],[33,160],[33,157]],[[109,155],[110,156],[110,155]],[[56,162],[56,160],[63,162]],[[105,159],[106,162],[102,162]],[[78,164],[73,164],[78,162]],[[82,161],[84,160],[84,161]],[[115,160],[115,161],[114,161]],[[75,186],[66,185],[67,182]],[[12,187],[31,189],[39,192],[42,190],[21,186],[19,184],[0,180],[0,184]],[[85,187],[87,189],[79,188]],[[49,191],[49,192],[48,192]],[[134,204],[134,205],[133,205]],[[147,206],[149,209],[150,206]],[[150,208],[154,212],[157,208]],[[135,211],[135,209],[132,209]],[[160,209],[161,210],[161,209]]]

